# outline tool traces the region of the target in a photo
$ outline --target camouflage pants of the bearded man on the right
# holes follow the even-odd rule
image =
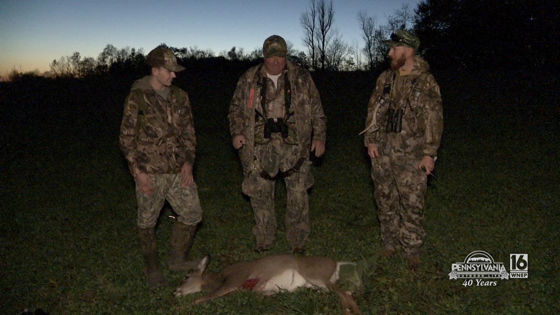
[[[418,157],[381,155],[371,159],[374,197],[385,246],[403,245],[405,255],[421,252],[427,177]]]

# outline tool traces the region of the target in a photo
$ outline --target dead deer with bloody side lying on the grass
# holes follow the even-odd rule
[[[264,295],[297,288],[321,288],[337,292],[344,314],[360,314],[352,294],[338,285],[340,265],[328,257],[295,256],[291,254],[265,256],[253,261],[237,262],[218,274],[204,272],[209,257],[200,261],[197,270],[190,273],[174,292],[175,297],[208,291],[194,304],[222,297],[236,290],[251,290]]]

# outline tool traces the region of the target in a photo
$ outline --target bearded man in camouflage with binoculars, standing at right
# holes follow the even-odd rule
[[[417,36],[398,30],[387,43],[391,69],[381,73],[371,95],[364,142],[381,222],[381,254],[393,256],[402,245],[414,269],[426,237],[427,176],[443,129],[441,95],[428,63],[415,54]]]

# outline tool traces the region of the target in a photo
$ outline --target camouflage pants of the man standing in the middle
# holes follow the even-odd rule
[[[257,245],[269,245],[276,237],[276,212],[274,211],[274,190],[276,180],[265,179],[260,170],[265,170],[271,177],[278,170],[285,172],[291,169],[299,159],[297,146],[287,145],[277,138],[267,145],[255,147],[255,164],[258,164],[245,177],[242,189],[251,198],[253,207],[255,235]],[[304,161],[299,172],[284,178],[286,183],[287,201],[284,226],[286,238],[292,247],[301,248],[309,235],[309,198],[307,189],[313,186],[313,175],[310,172],[311,161]]]

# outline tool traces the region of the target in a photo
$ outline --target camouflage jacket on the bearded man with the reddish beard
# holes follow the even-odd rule
[[[393,143],[404,143],[404,152],[417,155],[437,155],[443,130],[443,113],[440,87],[429,72],[428,63],[414,56],[412,72],[399,76],[398,70],[381,73],[368,107],[366,126],[370,126],[376,113],[376,126],[365,133],[364,142],[387,145],[387,120],[389,108],[403,109],[402,131]],[[375,111],[376,105],[379,109]],[[379,129],[375,130],[377,127]],[[375,130],[375,131],[372,131]]]

